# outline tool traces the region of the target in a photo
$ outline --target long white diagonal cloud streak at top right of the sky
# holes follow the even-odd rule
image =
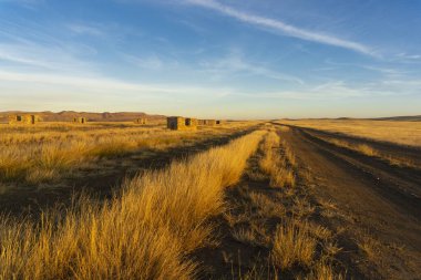
[[[275,20],[270,18],[265,18],[265,17],[243,12],[232,7],[222,4],[215,0],[183,0],[183,1],[187,4],[212,9],[214,11],[220,12],[225,15],[232,17],[234,19],[237,19],[239,21],[243,21],[253,25],[258,25],[258,27],[269,28],[273,30],[280,31],[285,35],[299,38],[306,41],[335,45],[335,46],[348,49],[351,51],[356,51],[359,53],[363,53],[367,55],[371,55],[371,56],[378,56],[377,53],[371,48],[362,43],[343,40],[335,35],[305,30],[301,28],[287,24],[280,20]]]

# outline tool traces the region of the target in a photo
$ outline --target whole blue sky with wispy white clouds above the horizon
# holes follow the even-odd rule
[[[421,114],[420,0],[0,0],[0,111]]]

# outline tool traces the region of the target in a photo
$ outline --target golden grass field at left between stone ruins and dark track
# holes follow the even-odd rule
[[[201,132],[172,132],[125,123],[0,125],[0,177],[2,182],[49,182],[101,157],[185,145],[245,126],[228,123]]]

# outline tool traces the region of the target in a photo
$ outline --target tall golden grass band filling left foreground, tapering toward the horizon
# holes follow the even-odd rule
[[[41,222],[0,219],[0,279],[192,279],[204,245],[263,132],[124,184],[109,203],[80,199]]]

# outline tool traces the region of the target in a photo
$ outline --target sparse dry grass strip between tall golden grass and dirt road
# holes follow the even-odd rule
[[[269,133],[254,158],[257,160],[251,160],[248,168],[259,183],[257,186],[240,185],[234,200],[236,214],[226,214],[235,240],[254,251],[256,247],[267,250],[255,253],[247,261],[247,268],[238,261],[238,271],[233,270],[233,279],[281,279],[284,273],[296,279],[345,279],[332,267],[341,248],[337,246],[333,232],[314,220],[316,205],[305,186],[267,189],[267,180],[260,179],[259,173],[266,174],[274,184],[274,176],[281,174],[283,169],[294,169],[290,162],[296,164],[292,151],[279,139],[283,134],[268,128]],[[259,169],[255,168],[256,165]],[[254,188],[259,186],[263,188]],[[294,191],[287,194],[287,190]],[[336,207],[331,201],[322,203],[332,209]]]

